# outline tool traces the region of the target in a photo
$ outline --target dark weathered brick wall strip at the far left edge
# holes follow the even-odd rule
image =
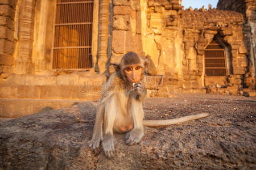
[[[16,0],[0,1],[0,82],[13,73]]]

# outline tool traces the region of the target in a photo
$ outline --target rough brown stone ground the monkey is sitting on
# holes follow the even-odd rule
[[[256,97],[182,94],[149,98],[145,119],[207,112],[200,120],[145,128],[139,145],[123,134],[113,159],[94,153],[96,101],[0,123],[0,169],[256,169]]]

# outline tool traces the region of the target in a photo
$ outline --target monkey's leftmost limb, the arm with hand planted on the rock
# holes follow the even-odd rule
[[[89,147],[92,147],[93,150],[100,146],[100,142],[102,141],[102,124],[104,117],[104,104],[99,104],[96,112],[96,120],[93,128],[93,137],[92,140],[88,142]]]

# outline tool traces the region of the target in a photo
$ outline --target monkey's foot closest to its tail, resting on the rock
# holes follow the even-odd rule
[[[126,135],[126,144],[127,145],[133,145],[135,143],[139,143],[141,141],[141,138],[143,137],[143,129],[133,129]]]

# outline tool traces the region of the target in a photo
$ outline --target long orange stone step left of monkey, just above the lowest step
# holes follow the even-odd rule
[[[101,96],[102,84],[81,86],[1,85],[0,98],[94,100]]]

